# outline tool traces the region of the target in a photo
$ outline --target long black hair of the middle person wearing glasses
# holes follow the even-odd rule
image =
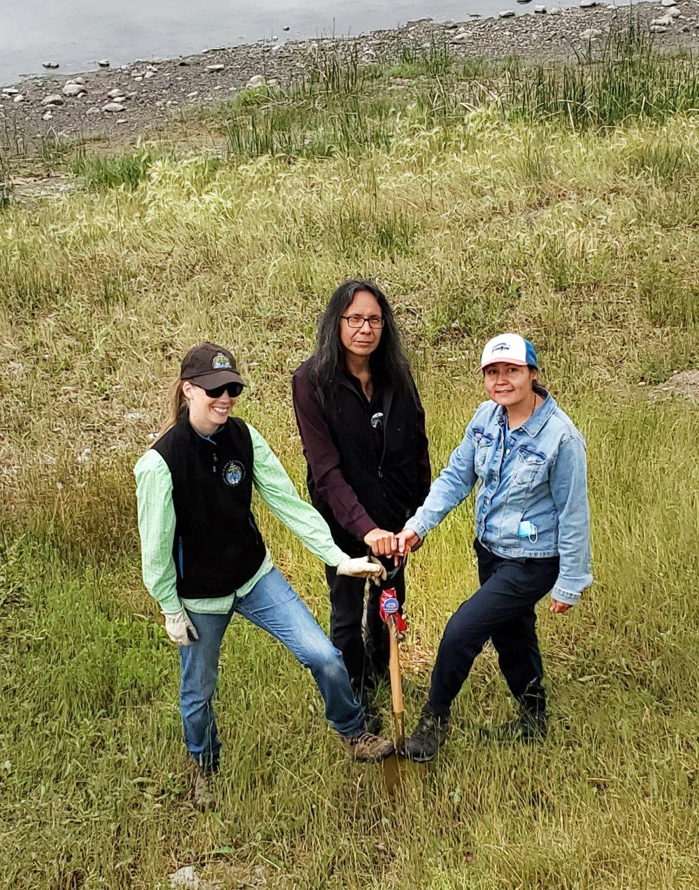
[[[309,360],[310,382],[318,389],[322,389],[324,384],[331,383],[347,370],[345,352],[340,341],[341,316],[347,312],[355,294],[361,290],[367,290],[374,296],[383,318],[379,345],[369,356],[372,375],[389,381],[396,390],[408,384],[410,364],[386,295],[373,281],[352,279],[343,281],[330,297],[330,303],[318,324],[316,352]]]

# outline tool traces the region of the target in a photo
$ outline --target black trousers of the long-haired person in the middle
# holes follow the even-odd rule
[[[385,675],[389,665],[389,628],[379,615],[381,588],[369,582],[365,638],[362,618],[366,581],[337,575],[332,566],[325,566],[325,578],[330,587],[331,642],[342,653],[355,692],[372,692],[377,677]],[[387,584],[395,587],[402,611],[406,602],[406,575],[402,567]]]

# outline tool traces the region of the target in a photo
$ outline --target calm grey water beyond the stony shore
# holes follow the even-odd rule
[[[0,84],[43,73],[44,61],[58,61],[60,73],[71,74],[96,68],[99,59],[114,67],[262,37],[361,34],[428,15],[462,21],[503,9],[520,14],[533,6],[515,0],[0,0]]]

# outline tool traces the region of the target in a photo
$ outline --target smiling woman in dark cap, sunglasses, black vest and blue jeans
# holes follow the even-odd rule
[[[352,756],[375,761],[393,750],[366,732],[339,651],[275,568],[251,510],[253,487],[311,553],[338,574],[366,578],[378,569],[350,559],[325,522],[301,500],[253,426],[229,417],[244,387],[230,352],[211,343],[191,349],[173,388],[165,432],[135,466],[143,579],[180,646],[184,736],[197,765],[197,805],[213,803],[208,776],[221,743],[213,714],[221,640],[238,612],[308,667],[325,716]]]

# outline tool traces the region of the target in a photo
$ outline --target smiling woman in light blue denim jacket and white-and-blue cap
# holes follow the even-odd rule
[[[430,494],[398,535],[403,554],[422,543],[479,482],[476,540],[480,587],[448,620],[430,695],[406,756],[431,760],[446,738],[452,702],[488,639],[518,700],[500,738],[546,732],[542,657],[534,605],[566,612],[592,583],[585,442],[537,383],[534,346],[516,334],[490,340],[481,359],[489,401],[479,405]]]

